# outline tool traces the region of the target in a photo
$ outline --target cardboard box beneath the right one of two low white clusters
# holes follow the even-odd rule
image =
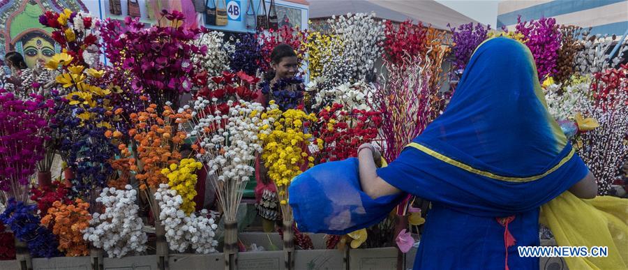
[[[214,254],[170,254],[170,269],[225,269],[225,255]]]

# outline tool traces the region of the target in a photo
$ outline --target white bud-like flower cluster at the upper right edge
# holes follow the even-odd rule
[[[581,41],[583,49],[576,55],[576,70],[581,75],[601,72],[609,68],[611,62],[612,66],[618,66],[618,63],[622,60],[623,54],[628,51],[627,38],[622,45],[620,45],[620,50],[618,50],[616,56],[609,62],[609,54],[607,52],[615,46],[615,44],[613,44],[615,38],[609,37],[608,34],[605,36],[589,36],[589,33],[585,31],[581,36]]]

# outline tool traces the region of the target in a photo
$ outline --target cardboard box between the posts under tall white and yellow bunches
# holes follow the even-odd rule
[[[223,264],[224,268],[224,264]],[[283,251],[238,253],[238,270],[284,270]]]

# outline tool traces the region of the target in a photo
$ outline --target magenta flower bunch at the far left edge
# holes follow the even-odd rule
[[[50,139],[46,118],[52,100],[32,98],[20,100],[0,89],[0,189],[6,198],[20,202],[29,199],[29,179],[44,158],[44,142]]]

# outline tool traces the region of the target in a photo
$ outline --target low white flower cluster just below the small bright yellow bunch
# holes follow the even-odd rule
[[[183,198],[177,194],[177,190],[170,189],[167,183],[159,185],[155,200],[159,203],[159,220],[164,225],[170,249],[183,253],[188,246],[192,246],[196,253],[216,252],[218,241],[214,237],[218,225],[213,218],[207,218],[207,210],[203,209],[199,216],[195,213],[187,216],[181,210]]]

